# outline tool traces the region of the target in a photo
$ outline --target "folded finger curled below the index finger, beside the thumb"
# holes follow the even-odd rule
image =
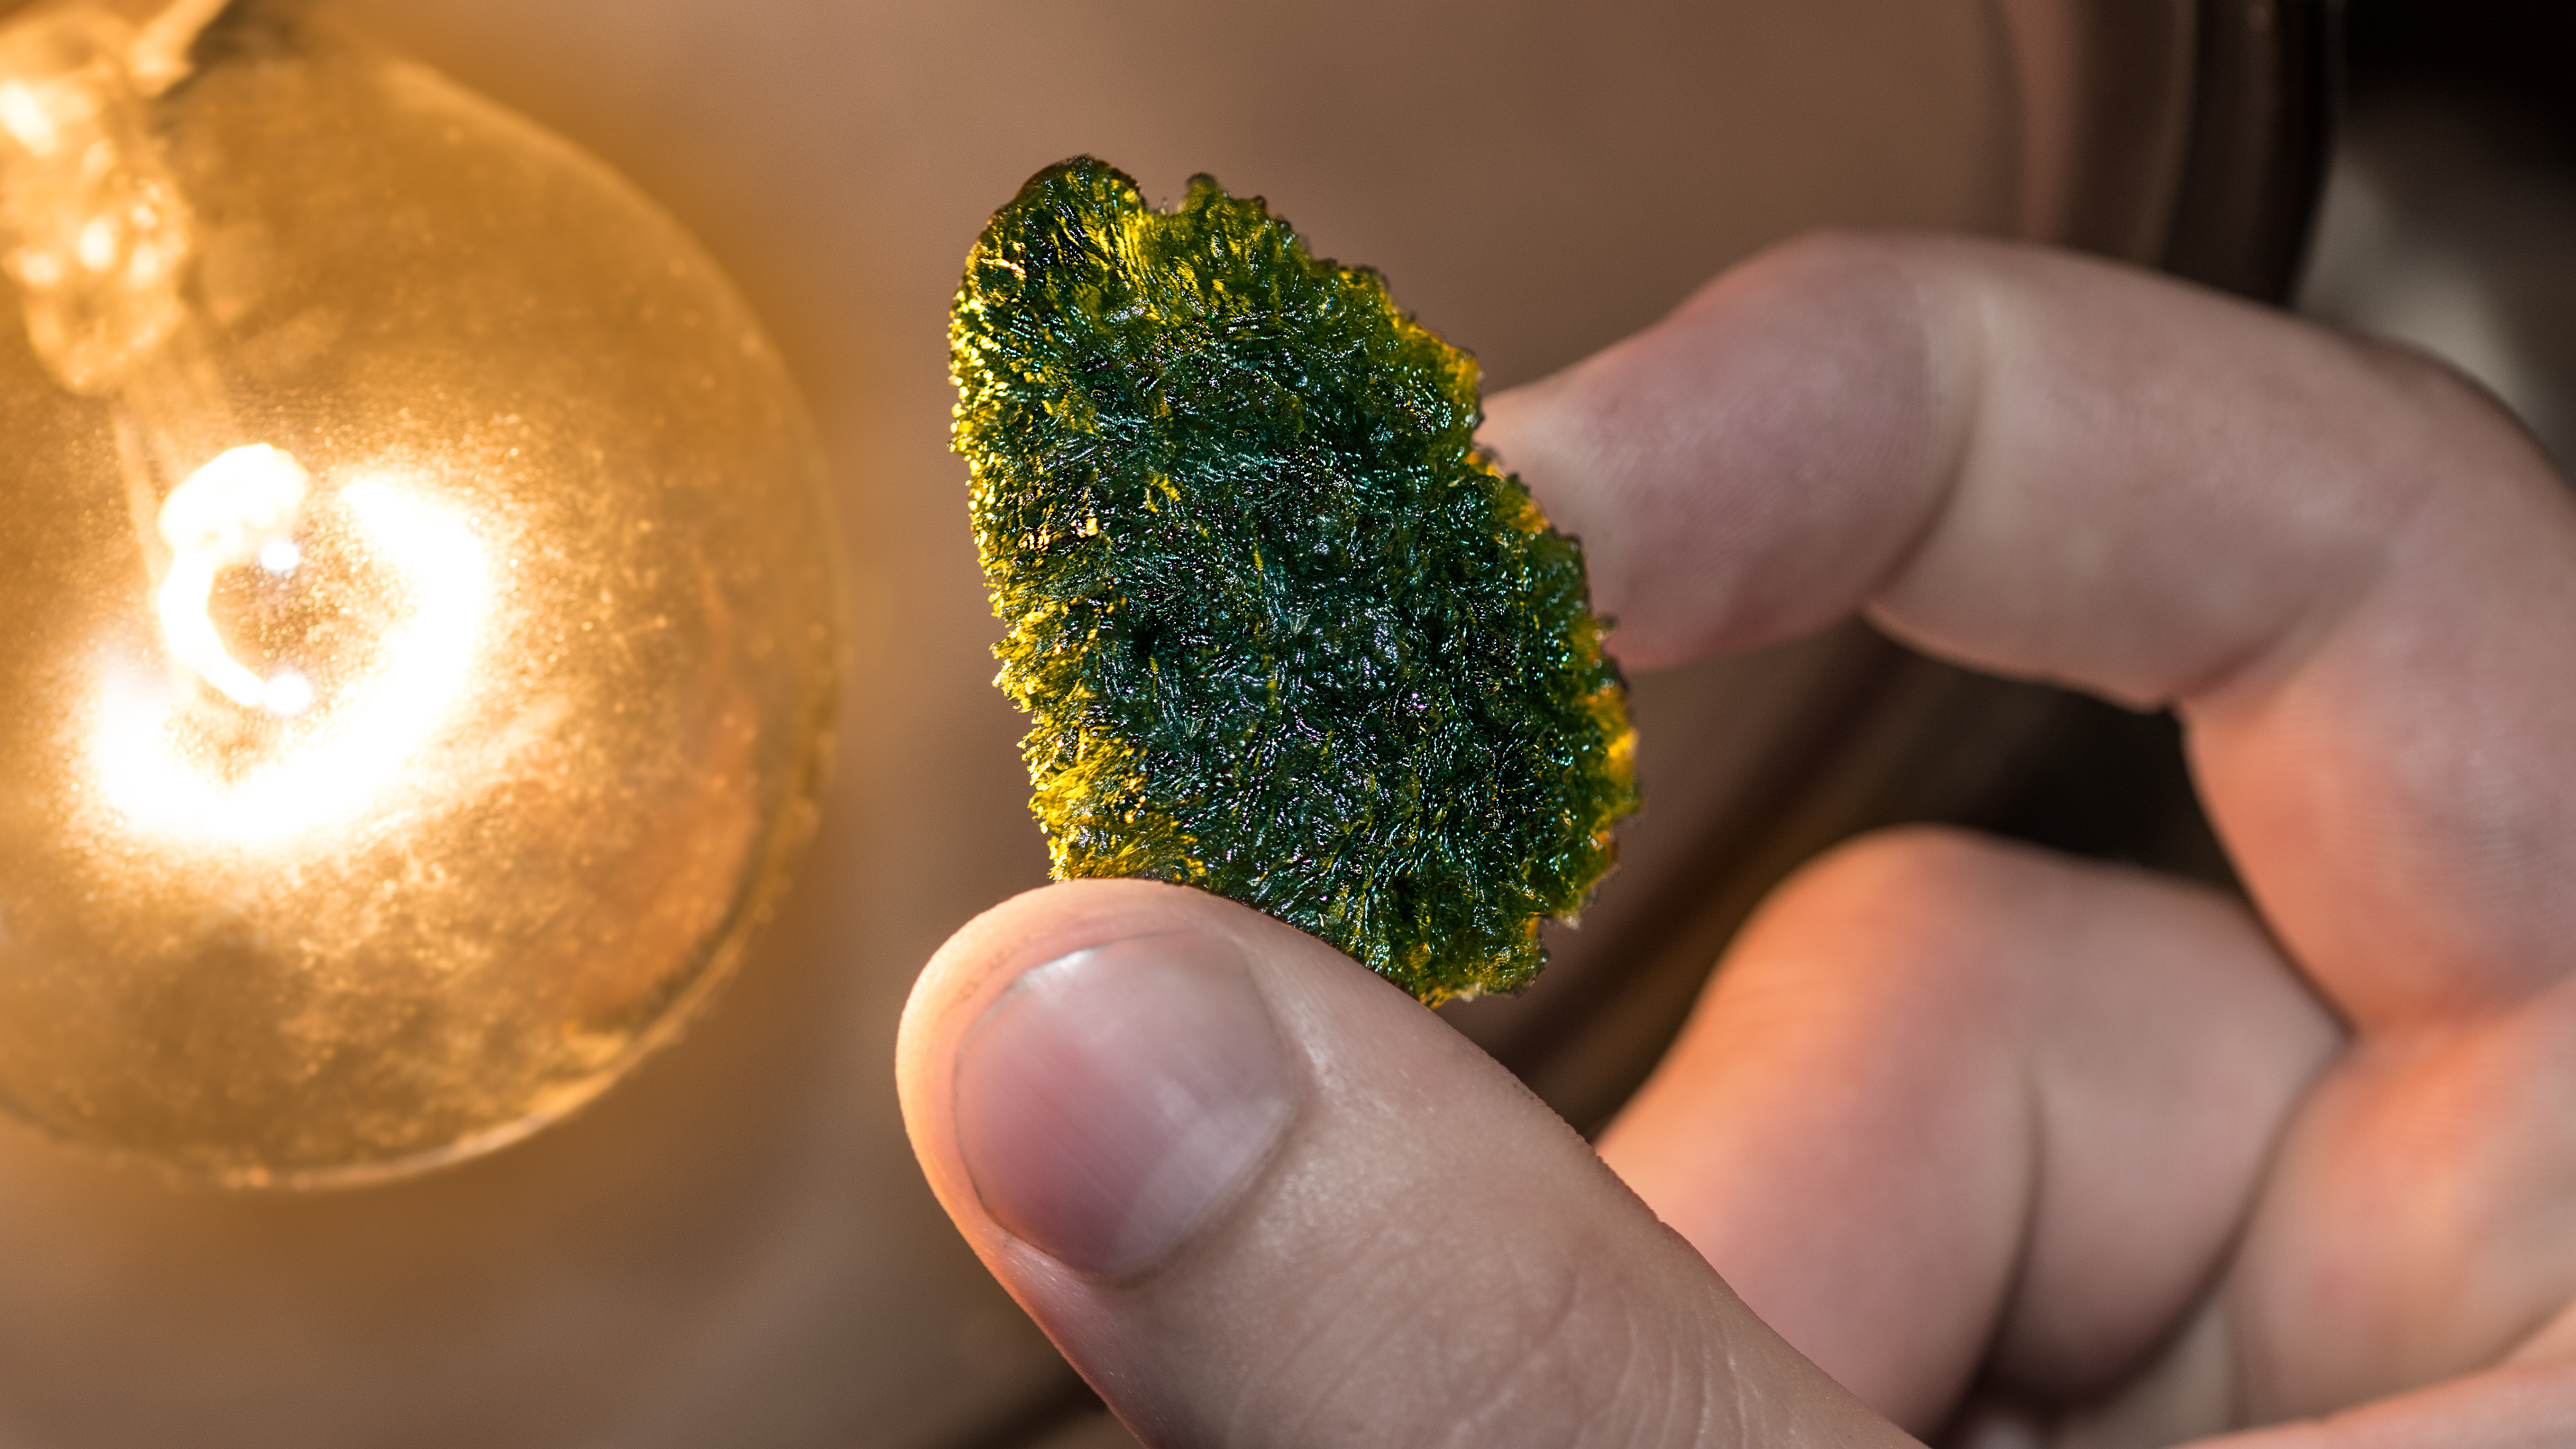
[[[2053,1403],[2133,1372],[2336,1044],[2218,892],[1899,830],[1762,908],[1602,1158],[1927,1434],[1981,1369]]]

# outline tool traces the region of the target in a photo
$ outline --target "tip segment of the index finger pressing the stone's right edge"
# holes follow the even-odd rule
[[[1783,242],[1489,400],[1479,438],[1582,539],[1625,665],[1821,629],[1904,557],[1955,451],[1914,284],[1924,245]]]

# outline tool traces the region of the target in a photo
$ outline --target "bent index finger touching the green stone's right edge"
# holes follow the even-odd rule
[[[2285,946],[2370,1029],[2576,941],[2576,503],[2450,371],[2110,263],[1819,237],[1502,394],[1633,665],[1868,611],[2174,704]]]

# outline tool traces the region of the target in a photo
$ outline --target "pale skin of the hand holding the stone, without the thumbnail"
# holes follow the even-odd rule
[[[907,1122],[1146,1441],[2576,1441],[2576,503],[2491,400],[2105,263],[1821,237],[1497,397],[1486,441],[1631,668],[1860,611],[2174,706],[2251,905],[1857,841],[1595,1155],[1267,918],[1005,902],[922,977]],[[1103,1274],[994,1220],[953,1083],[1012,980],[1136,936],[1242,954],[1293,1124]]]

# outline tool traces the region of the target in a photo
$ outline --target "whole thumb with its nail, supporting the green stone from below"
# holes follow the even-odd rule
[[[948,1214],[1146,1444],[1911,1444],[1437,1016],[1226,900],[1005,902],[896,1055]]]

